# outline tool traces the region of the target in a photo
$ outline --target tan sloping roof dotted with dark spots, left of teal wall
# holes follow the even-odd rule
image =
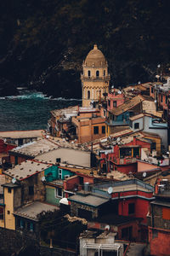
[[[38,163],[35,161],[26,160],[20,165],[14,166],[14,168],[8,169],[3,173],[8,175],[9,177],[15,177],[17,180],[22,180],[26,177],[30,177],[37,172],[42,172],[50,166],[51,165],[45,163]]]

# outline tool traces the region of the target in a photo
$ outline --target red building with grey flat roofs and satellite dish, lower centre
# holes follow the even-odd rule
[[[146,225],[153,187],[136,179],[99,183],[68,199],[71,213],[88,218],[88,228],[105,230],[110,225],[117,239],[146,241]]]

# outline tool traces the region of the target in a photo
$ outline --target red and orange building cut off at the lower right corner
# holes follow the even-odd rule
[[[155,196],[148,216],[150,255],[166,256],[170,246],[170,180],[157,179]]]

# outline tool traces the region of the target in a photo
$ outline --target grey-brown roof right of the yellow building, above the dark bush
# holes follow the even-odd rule
[[[31,204],[18,208],[17,211],[14,212],[14,215],[38,221],[37,215],[41,212],[54,212],[58,210],[59,207],[55,207],[40,201],[34,201]]]

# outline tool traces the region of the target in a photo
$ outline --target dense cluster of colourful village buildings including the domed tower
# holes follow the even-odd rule
[[[51,111],[48,132],[35,131],[35,138],[14,132],[11,143],[2,137],[0,226],[37,236],[39,215],[61,211],[87,224],[80,236],[84,253],[123,255],[122,244],[143,242],[144,248],[149,241],[150,254],[168,255],[167,245],[156,252],[155,244],[168,241],[170,229],[169,79],[109,90],[97,45],[81,79],[82,107]],[[12,141],[19,138],[26,141]],[[107,234],[89,242],[91,230]]]

